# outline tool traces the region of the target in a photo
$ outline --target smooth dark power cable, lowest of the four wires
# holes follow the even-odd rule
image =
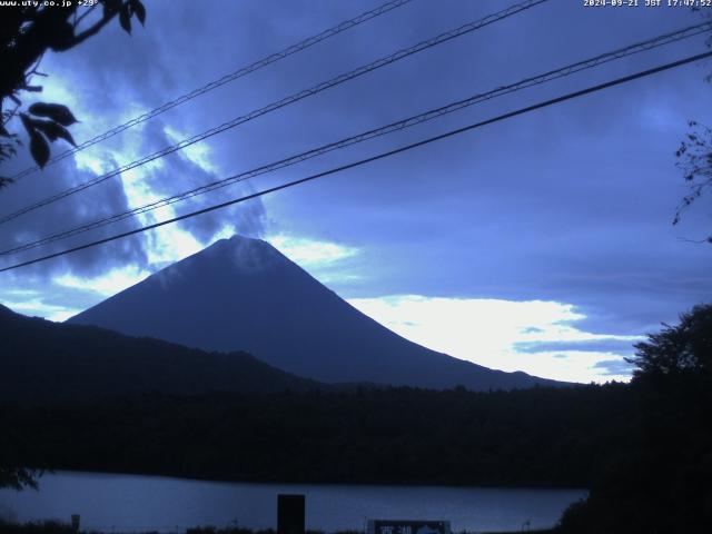
[[[221,202],[221,204],[217,204],[217,205],[210,206],[208,208],[202,208],[202,209],[199,209],[199,210],[196,210],[196,211],[191,211],[189,214],[180,215],[180,216],[174,217],[171,219],[161,220],[160,222],[155,222],[152,225],[144,226],[141,228],[136,228],[134,230],[125,231],[125,233],[121,233],[121,234],[116,234],[116,235],[113,235],[111,237],[106,237],[103,239],[98,239],[96,241],[87,243],[85,245],[80,245],[80,246],[77,246],[77,247],[73,247],[73,248],[70,248],[70,249],[66,249],[66,250],[62,250],[62,251],[59,251],[59,253],[49,254],[47,256],[41,256],[39,258],[30,259],[28,261],[22,261],[22,263],[19,263],[19,264],[14,264],[14,265],[11,265],[9,267],[3,267],[3,268],[0,268],[0,273],[4,273],[7,270],[12,270],[12,269],[18,269],[20,267],[26,267],[26,266],[33,265],[33,264],[37,264],[37,263],[40,263],[40,261],[46,261],[48,259],[57,258],[59,256],[65,256],[65,255],[68,255],[68,254],[71,254],[71,253],[77,253],[79,250],[85,250],[87,248],[96,247],[98,245],[103,245],[105,243],[115,241],[117,239],[121,239],[121,238],[125,238],[125,237],[129,237],[129,236],[132,236],[132,235],[136,235],[136,234],[140,234],[140,233],[144,233],[144,231],[147,231],[147,230],[159,228],[159,227],[165,226],[165,225],[170,225],[172,222],[178,222],[180,220],[189,219],[189,218],[196,217],[198,215],[204,215],[204,214],[208,214],[210,211],[216,211],[218,209],[226,208],[228,206],[233,206],[235,204],[240,204],[240,202],[244,202],[244,201],[247,201],[247,200],[251,200],[254,198],[258,198],[258,197],[268,195],[270,192],[276,192],[276,191],[279,191],[281,189],[288,189],[290,187],[295,187],[295,186],[298,186],[298,185],[301,185],[301,184],[306,184],[308,181],[316,180],[317,178],[324,178],[324,177],[327,177],[327,176],[330,176],[330,175],[335,175],[337,172],[342,172],[344,170],[348,170],[348,169],[353,169],[353,168],[356,168],[356,167],[360,167],[363,165],[370,164],[373,161],[377,161],[377,160],[380,160],[380,159],[384,159],[384,158],[388,158],[390,156],[395,156],[397,154],[402,154],[402,152],[405,152],[405,151],[408,151],[408,150],[413,150],[414,148],[423,147],[423,146],[429,145],[432,142],[439,141],[442,139],[447,139],[449,137],[453,137],[453,136],[456,136],[456,135],[459,135],[459,134],[464,134],[466,131],[474,130],[476,128],[482,128],[484,126],[492,125],[494,122],[500,122],[500,121],[503,121],[503,120],[506,120],[506,119],[511,119],[511,118],[517,117],[520,115],[524,115],[524,113],[527,113],[527,112],[531,112],[531,111],[535,111],[537,109],[542,109],[542,108],[545,108],[545,107],[548,107],[548,106],[554,106],[556,103],[561,103],[561,102],[564,102],[566,100],[572,100],[574,98],[583,97],[585,95],[590,95],[592,92],[601,91],[603,89],[609,89],[609,88],[614,87],[614,86],[620,86],[620,85],[626,83],[629,81],[633,81],[633,80],[636,80],[636,79],[640,79],[640,78],[652,76],[652,75],[655,75],[657,72],[663,72],[665,70],[670,70],[670,69],[673,69],[673,68],[676,68],[676,67],[681,67],[683,65],[688,65],[688,63],[691,63],[693,61],[699,61],[699,60],[702,60],[702,59],[706,59],[709,57],[712,57],[712,51],[704,52],[704,53],[699,53],[696,56],[690,56],[688,58],[680,59],[678,61],[673,61],[673,62],[665,63],[665,65],[662,65],[662,66],[659,66],[659,67],[655,67],[655,68],[652,68],[652,69],[647,69],[647,70],[643,70],[643,71],[640,71],[640,72],[636,72],[634,75],[629,75],[629,76],[625,76],[625,77],[622,77],[622,78],[616,78],[615,80],[606,81],[605,83],[600,83],[600,85],[596,85],[596,86],[589,87],[586,89],[582,89],[582,90],[578,90],[578,91],[570,92],[570,93],[561,96],[561,97],[553,98],[551,100],[545,100],[543,102],[538,102],[538,103],[535,103],[533,106],[527,106],[525,108],[520,108],[520,109],[517,109],[515,111],[510,111],[508,113],[500,115],[500,116],[494,117],[492,119],[483,120],[481,122],[475,122],[473,125],[468,125],[468,126],[465,126],[465,127],[462,127],[462,128],[449,130],[449,131],[447,131],[445,134],[441,134],[438,136],[429,137],[427,139],[423,139],[423,140],[417,141],[417,142],[413,142],[413,144],[409,144],[409,145],[406,145],[406,146],[403,146],[403,147],[399,147],[399,148],[396,148],[396,149],[393,149],[393,150],[388,150],[386,152],[382,152],[382,154],[378,154],[376,156],[372,156],[369,158],[360,159],[358,161],[353,161],[350,164],[343,165],[340,167],[336,167],[336,168],[333,168],[333,169],[329,169],[329,170],[326,170],[326,171],[323,171],[323,172],[317,172],[315,175],[310,175],[310,176],[307,176],[305,178],[300,178],[298,180],[288,181],[286,184],[281,184],[279,186],[270,187],[268,189],[263,189],[261,191],[254,192],[251,195],[247,195],[247,196],[244,196],[244,197],[235,198],[233,200],[228,200],[228,201],[225,201],[225,202]]]

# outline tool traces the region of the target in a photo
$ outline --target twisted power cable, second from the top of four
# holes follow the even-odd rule
[[[327,81],[323,81],[309,89],[304,89],[299,92],[296,92],[289,97],[283,98],[281,100],[278,100],[276,102],[273,102],[268,106],[265,106],[263,108],[259,108],[257,110],[254,110],[247,115],[244,115],[241,117],[237,117],[228,122],[225,122],[220,126],[217,126],[215,128],[211,128],[207,131],[204,131],[202,134],[198,134],[196,136],[192,136],[188,139],[184,139],[182,141],[172,145],[170,147],[166,147],[162,150],[159,150],[157,152],[154,152],[149,156],[145,156],[141,159],[138,159],[136,161],[132,161],[130,164],[123,165],[117,169],[113,169],[102,176],[99,176],[97,178],[93,178],[85,184],[80,184],[79,186],[76,186],[73,188],[70,189],[66,189],[65,191],[58,192],[51,197],[48,197],[43,200],[40,200],[38,202],[34,202],[30,206],[26,206],[24,208],[21,208],[10,215],[7,215],[4,217],[0,218],[0,224],[4,224],[8,222],[17,217],[20,217],[21,215],[24,215],[27,212],[33,211],[38,208],[41,208],[43,206],[47,206],[49,204],[52,204],[57,200],[60,200],[62,198],[66,198],[70,195],[73,195],[76,192],[82,191],[85,189],[88,189],[89,187],[96,186],[97,184],[101,184],[102,181],[108,180],[109,178],[112,178],[115,176],[120,175],[121,172],[125,172],[127,170],[131,170],[135,169],[137,167],[140,167],[145,164],[148,164],[150,161],[154,161],[156,159],[162,158],[168,156],[169,154],[176,152],[178,150],[181,150],[186,147],[189,147],[190,145],[195,145],[198,141],[202,141],[211,136],[215,136],[217,134],[221,134],[226,130],[229,130],[230,128],[235,128],[236,126],[239,126],[241,123],[248,122],[257,117],[260,117],[263,115],[269,113],[271,111],[275,111],[277,109],[284,108],[285,106],[289,106],[291,103],[295,103],[299,100],[303,100],[304,98],[307,97],[312,97],[314,95],[317,95],[326,89],[329,89],[332,87],[335,86],[339,86],[346,81],[349,81],[354,78],[357,78],[359,76],[363,76],[367,72],[372,72],[376,69],[379,69],[382,67],[386,67],[390,63],[394,63],[396,61],[399,61],[400,59],[407,58],[409,56],[413,56],[414,53],[418,53],[423,50],[427,50],[429,48],[433,48],[437,44],[442,44],[443,42],[449,41],[452,39],[455,39],[457,37],[462,37],[466,33],[469,33],[472,31],[478,30],[485,26],[492,24],[494,22],[497,22],[500,20],[503,20],[507,17],[512,17],[513,14],[516,14],[521,11],[531,9],[535,6],[538,6],[541,3],[547,2],[548,0],[526,0],[524,2],[511,6],[507,9],[504,9],[502,11],[498,11],[496,13],[490,14],[483,19],[473,21],[473,22],[468,22],[466,24],[461,26],[459,28],[456,28],[454,30],[451,31],[446,31],[444,33],[441,33],[432,39],[427,39],[425,41],[421,41],[417,44],[414,44],[409,48],[405,48],[402,49],[395,53],[392,53],[390,56],[386,56],[384,58],[377,59],[376,61],[373,61],[368,65],[365,65],[363,67],[359,67],[357,69],[354,69],[349,72],[339,75],[335,78],[332,78],[330,80]]]

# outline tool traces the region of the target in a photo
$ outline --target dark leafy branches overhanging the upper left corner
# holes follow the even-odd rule
[[[50,142],[62,139],[75,145],[67,128],[77,119],[61,103],[38,102],[21,111],[22,93],[42,90],[32,83],[34,76],[47,76],[38,70],[42,56],[48,50],[62,52],[81,44],[117,17],[130,33],[131,18],[144,24],[146,9],[140,0],[97,0],[91,7],[82,7],[81,13],[78,2],[67,7],[22,3],[2,8],[0,17],[0,161],[13,157],[21,145],[18,134],[8,129],[17,116],[29,136],[32,158],[43,167],[50,157]],[[100,13],[97,8],[101,8]],[[11,181],[0,176],[0,188]]]

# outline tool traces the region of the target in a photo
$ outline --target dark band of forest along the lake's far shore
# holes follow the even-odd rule
[[[0,407],[22,465],[239,481],[585,486],[625,441],[623,385],[146,395]],[[4,454],[4,452],[2,452]]]

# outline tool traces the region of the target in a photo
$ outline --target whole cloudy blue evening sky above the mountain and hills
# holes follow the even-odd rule
[[[3,214],[18,209],[511,3],[413,0],[23,179],[0,194],[0,208]],[[72,132],[81,141],[377,4],[147,2],[147,26],[135,28],[131,37],[116,23],[76,50],[48,55],[42,99],[71,107],[81,120]],[[71,228],[699,20],[699,13],[680,8],[584,8],[551,0],[18,218],[6,225],[0,245]],[[704,50],[704,38],[693,38],[633,56],[140,221]],[[684,240],[709,234],[709,199],[681,225],[671,220],[685,194],[674,151],[686,121],[712,122],[712,86],[704,82],[710,71],[710,63],[683,67],[2,274],[0,301],[60,320],[237,231],[269,240],[354,306],[428,347],[552,378],[625,379],[630,368],[623,357],[640,336],[709,301],[712,248]],[[3,174],[28,165],[21,156],[4,164]]]

